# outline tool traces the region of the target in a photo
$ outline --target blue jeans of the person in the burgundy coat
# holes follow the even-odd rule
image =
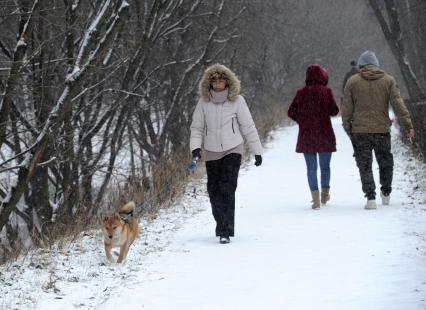
[[[317,179],[317,154],[319,157],[319,164],[321,170],[321,187],[330,188],[330,153],[303,153],[305,156],[306,168],[308,170],[308,183],[311,191],[318,190],[318,179]]]

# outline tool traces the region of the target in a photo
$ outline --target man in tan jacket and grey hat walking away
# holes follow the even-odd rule
[[[358,60],[360,72],[346,83],[341,107],[343,127],[354,148],[366,209],[376,209],[376,186],[372,172],[372,151],[379,165],[382,204],[388,205],[392,191],[393,156],[389,106],[392,107],[409,139],[414,137],[410,114],[395,79],[379,67],[372,51]]]

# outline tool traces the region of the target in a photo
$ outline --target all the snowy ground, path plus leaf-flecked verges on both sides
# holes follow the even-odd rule
[[[141,223],[124,265],[106,262],[93,231],[0,266],[0,309],[426,309],[426,166],[394,138],[391,204],[364,210],[340,123],[321,210],[310,209],[297,127],[284,128],[261,167],[241,170],[230,244],[214,237],[205,185],[190,186]]]

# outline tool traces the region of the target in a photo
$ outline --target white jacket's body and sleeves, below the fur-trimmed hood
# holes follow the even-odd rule
[[[207,151],[224,152],[243,143],[243,137],[255,155],[263,153],[253,118],[241,95],[224,103],[203,97],[198,101],[191,124],[191,151],[204,143]]]

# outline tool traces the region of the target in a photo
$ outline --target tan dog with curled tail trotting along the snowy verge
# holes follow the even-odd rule
[[[122,263],[129,252],[129,247],[135,241],[139,231],[139,221],[133,215],[135,203],[130,201],[118,209],[118,213],[105,216],[102,221],[105,254],[112,261],[112,247],[120,247],[117,263]]]

